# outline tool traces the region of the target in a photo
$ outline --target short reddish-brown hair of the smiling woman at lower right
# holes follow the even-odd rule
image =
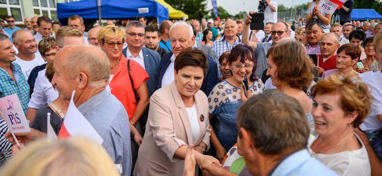
[[[317,95],[340,94],[340,107],[345,114],[358,112],[358,117],[352,122],[354,128],[358,128],[370,113],[372,96],[368,86],[361,82],[358,75],[350,74],[345,77],[331,75],[318,81],[310,91],[310,97],[313,99]]]

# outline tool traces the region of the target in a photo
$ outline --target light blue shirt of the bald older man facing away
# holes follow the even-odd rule
[[[130,176],[130,126],[122,103],[105,88],[78,106],[78,110],[102,137],[102,146],[114,163],[121,164],[121,176]]]

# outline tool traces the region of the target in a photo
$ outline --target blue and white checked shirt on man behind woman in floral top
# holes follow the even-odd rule
[[[212,53],[214,54],[213,59],[217,64],[217,76],[219,78],[223,76],[220,71],[219,57],[221,54],[223,54],[223,52],[231,51],[233,47],[235,47],[238,44],[241,44],[240,37],[239,36],[237,37],[238,38],[235,40],[234,44],[228,43],[227,40],[225,40],[225,37],[223,37],[215,41],[214,44],[212,45]]]

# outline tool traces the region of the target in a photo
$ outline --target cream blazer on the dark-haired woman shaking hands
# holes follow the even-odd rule
[[[182,145],[198,145],[201,141],[210,147],[208,99],[201,90],[194,99],[200,132],[192,141],[190,119],[175,81],[154,92],[134,176],[181,176],[184,160],[175,158],[175,151]]]

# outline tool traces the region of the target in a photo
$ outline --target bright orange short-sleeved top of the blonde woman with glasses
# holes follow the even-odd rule
[[[134,60],[130,60],[130,73],[135,89],[138,89],[143,81],[147,81],[149,78],[144,68]],[[137,102],[134,98],[133,87],[131,86],[129,72],[127,71],[127,59],[123,55],[121,55],[116,72],[109,86],[111,93],[122,103],[129,119],[131,119],[137,107]]]

